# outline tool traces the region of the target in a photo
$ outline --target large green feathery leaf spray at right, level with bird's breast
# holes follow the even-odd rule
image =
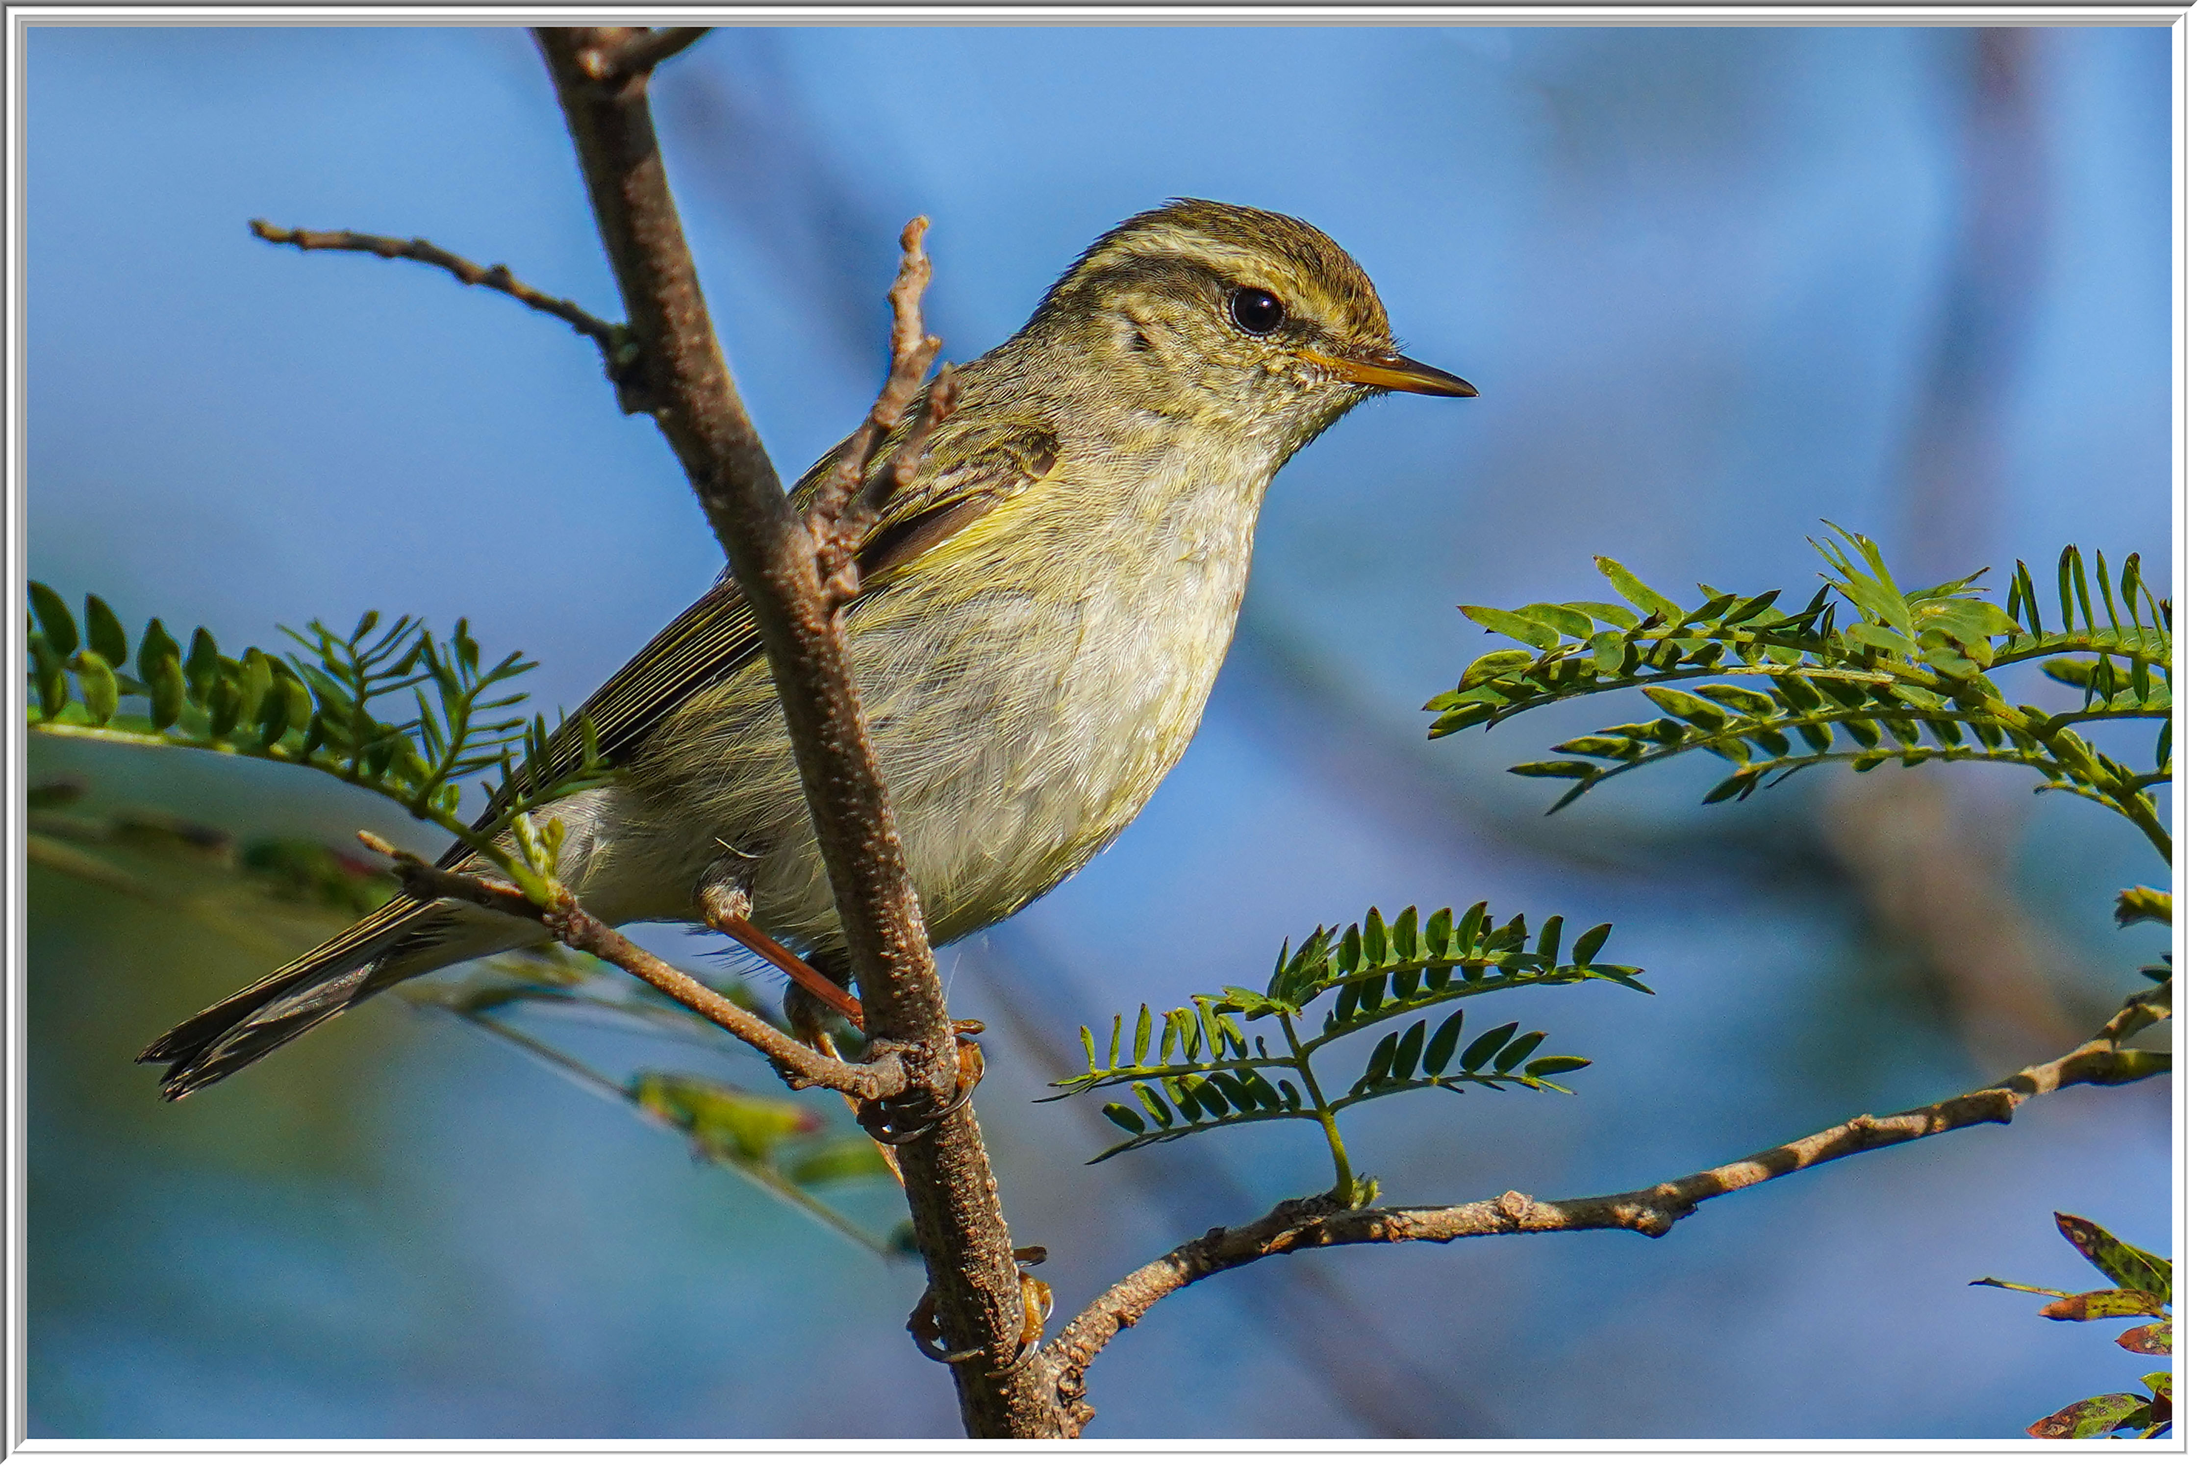
[[[1429,736],[1636,688],[1665,717],[1566,738],[1552,752],[1568,758],[1528,760],[1513,771],[1568,780],[1550,804],[1557,811],[1616,774],[1689,752],[1733,765],[1706,802],[1748,798],[1823,763],[1858,774],[1893,760],[2003,763],[2043,776],[2041,789],[2115,809],[2168,853],[2151,789],[2170,778],[2173,635],[2135,558],[2111,578],[2104,556],[2096,554],[2087,571],[2069,547],[2058,567],[2056,631],[2038,615],[2023,563],[2003,609],[1977,589],[1979,576],[1902,591],[1880,549],[1838,525],[1816,547],[1832,574],[1792,613],[1779,609],[1777,591],[1742,600],[1713,587],[1687,613],[1607,558],[1599,567],[1640,618],[1594,602],[1469,607],[1469,615],[1535,651],[1478,657],[1456,690],[1427,703],[1436,714]],[[1841,602],[1852,609],[1845,622]],[[1614,629],[1594,631],[1596,620]],[[2074,708],[2043,712],[2001,697],[1988,673],[2030,659],[2076,690]],[[2124,767],[2074,732],[2100,719],[2157,719],[2153,767]]]

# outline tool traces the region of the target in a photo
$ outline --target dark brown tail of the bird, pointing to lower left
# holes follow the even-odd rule
[[[433,901],[396,897],[372,917],[251,987],[185,1018],[139,1055],[167,1064],[161,1095],[183,1099],[226,1079],[402,976],[442,963],[405,960],[435,947],[451,914]]]

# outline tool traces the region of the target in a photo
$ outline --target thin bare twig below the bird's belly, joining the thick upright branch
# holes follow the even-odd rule
[[[708,1018],[750,1048],[756,1048],[778,1066],[794,1088],[818,1086],[853,1095],[855,1099],[891,1099],[910,1088],[908,1068],[895,1051],[871,1064],[849,1064],[847,1059],[822,1055],[800,1040],[781,1033],[767,1020],[750,1013],[715,987],[633,945],[627,936],[587,914],[570,890],[559,890],[552,906],[537,906],[510,881],[464,870],[444,870],[418,855],[398,851],[369,831],[358,831],[358,842],[396,862],[396,877],[407,895],[422,901],[466,901],[521,921],[539,921],[574,952],[600,956],[614,967],[649,982],[649,987],[679,1007]]]

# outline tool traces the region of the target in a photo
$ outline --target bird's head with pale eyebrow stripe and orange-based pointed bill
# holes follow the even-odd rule
[[[1025,334],[1093,360],[1110,407],[1229,429],[1280,457],[1379,391],[1476,396],[1399,354],[1374,284],[1326,233],[1198,198],[1104,233]]]

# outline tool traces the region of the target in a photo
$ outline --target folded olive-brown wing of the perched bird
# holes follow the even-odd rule
[[[833,446],[794,486],[798,506],[807,506],[816,497],[842,446],[844,442]],[[871,462],[875,464],[895,446],[888,440]],[[893,585],[895,576],[917,556],[943,545],[990,510],[1045,479],[1058,455],[1060,444],[1053,429],[1040,422],[961,424],[948,418],[926,444],[926,459],[948,459],[954,468],[946,473],[919,470],[917,479],[884,508],[855,552],[855,565],[862,571],[862,591],[855,600]],[[761,651],[763,637],[756,633],[756,618],[750,613],[732,571],[726,571],[704,591],[701,600],[649,637],[649,644],[627,666],[618,668],[581,703],[578,712],[550,734],[545,782],[554,785],[583,765],[581,719],[594,725],[600,756],[616,767],[655,732],[673,708],[732,677]],[[508,789],[497,789],[475,829],[504,811],[506,793]],[[457,864],[466,851],[464,842],[453,844],[442,864]]]

